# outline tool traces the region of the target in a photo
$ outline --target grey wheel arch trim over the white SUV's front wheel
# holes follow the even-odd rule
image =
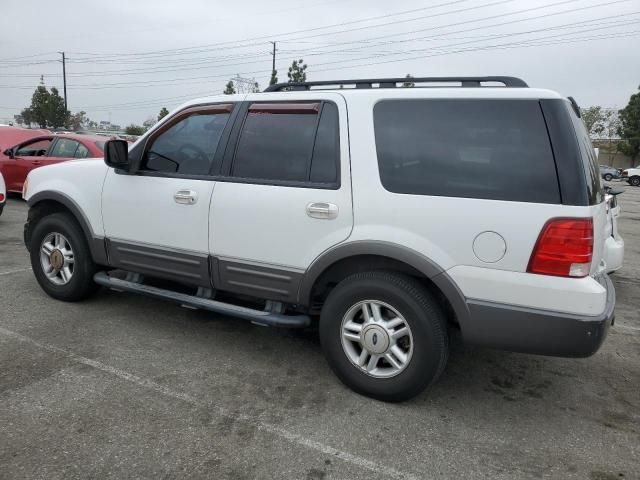
[[[29,249],[31,231],[36,222],[46,215],[64,212],[70,214],[80,225],[93,261],[100,265],[108,264],[104,238],[95,235],[89,220],[71,197],[60,192],[43,191],[31,196],[27,200],[27,205],[29,213],[24,229],[24,242],[27,249]]]

